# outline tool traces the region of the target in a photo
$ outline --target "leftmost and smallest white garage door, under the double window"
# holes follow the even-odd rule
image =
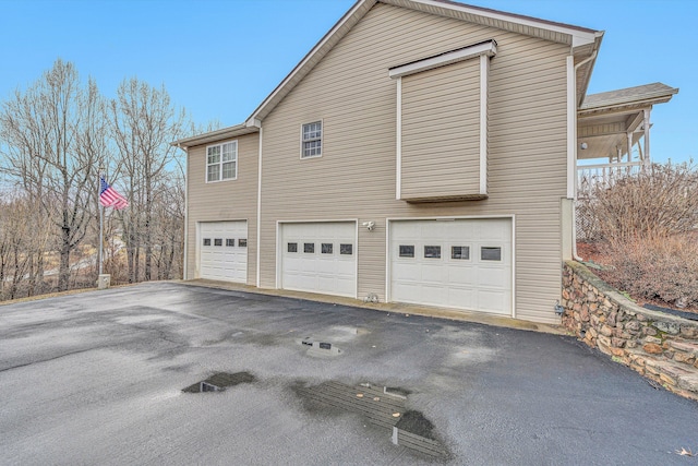
[[[198,224],[198,275],[201,278],[248,282],[248,223]]]

